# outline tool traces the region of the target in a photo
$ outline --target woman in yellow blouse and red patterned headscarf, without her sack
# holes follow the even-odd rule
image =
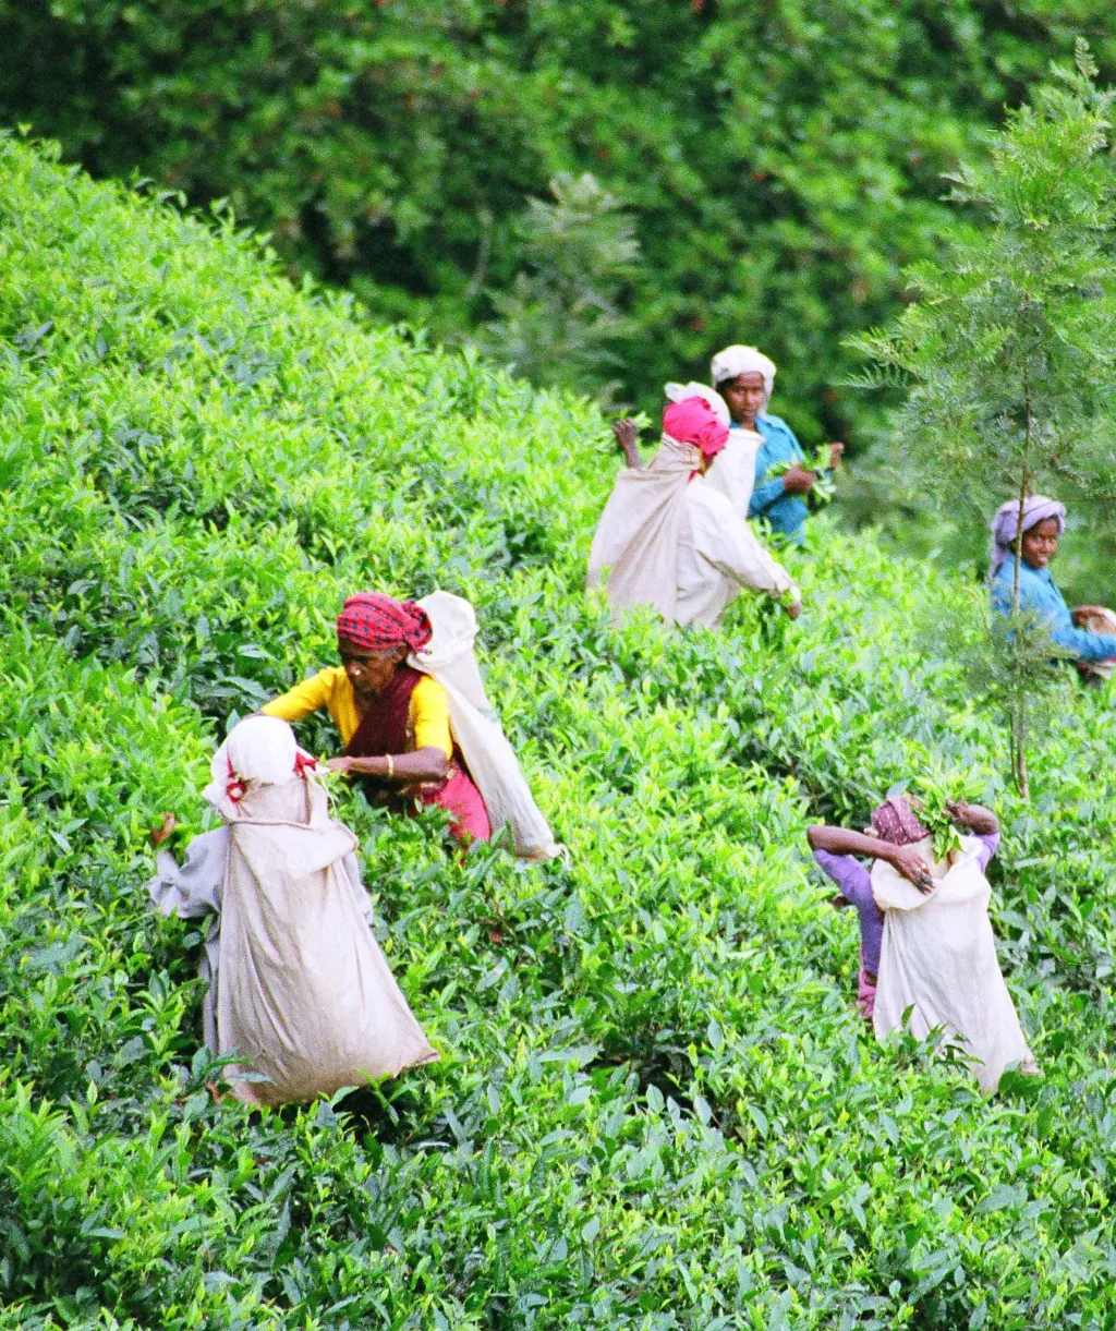
[[[329,666],[262,708],[297,721],[329,711],[345,755],[326,764],[366,777],[370,796],[388,807],[418,800],[452,816],[460,840],[491,835],[484,800],[450,731],[450,700],[430,675],[407,664],[431,639],[422,606],[380,592],[350,596],[337,622],[341,666]]]

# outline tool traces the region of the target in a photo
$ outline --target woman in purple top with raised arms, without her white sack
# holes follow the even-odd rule
[[[1000,844],[1000,825],[995,813],[979,804],[951,804],[950,813],[980,841],[978,856],[980,872]],[[857,990],[857,1009],[871,1020],[875,1009],[875,980],[879,973],[879,946],[883,941],[883,912],[875,904],[869,866],[857,856],[869,860],[887,860],[897,873],[914,882],[919,892],[932,892],[930,865],[916,843],[930,833],[918,821],[910,803],[902,795],[893,795],[879,808],[873,809],[871,828],[851,832],[815,824],[806,829],[814,858],[841,889],[834,905],[853,905],[861,917],[861,977]]]

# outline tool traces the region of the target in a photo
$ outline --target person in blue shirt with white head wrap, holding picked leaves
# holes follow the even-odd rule
[[[713,357],[709,373],[729,405],[732,430],[758,434],[761,439],[748,516],[762,518],[773,531],[801,542],[809,512],[806,495],[814,488],[818,473],[805,466],[806,455],[790,426],[767,411],[775,382],[774,361],[754,346],[726,346]],[[843,451],[843,443],[830,445],[831,467],[839,465]],[[771,467],[781,462],[790,462],[790,470],[769,478]]]

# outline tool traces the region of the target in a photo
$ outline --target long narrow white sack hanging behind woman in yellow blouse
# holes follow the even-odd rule
[[[407,658],[407,664],[446,689],[450,729],[484,800],[493,835],[507,825],[517,858],[552,860],[563,848],[539,812],[484,692],[474,652],[476,612],[463,596],[448,591],[431,592],[418,604],[430,616],[434,636],[422,651]]]

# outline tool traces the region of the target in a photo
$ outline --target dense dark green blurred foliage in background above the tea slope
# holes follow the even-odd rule
[[[528,201],[592,172],[644,252],[603,377],[654,410],[665,379],[760,341],[777,410],[855,438],[873,409],[834,387],[842,337],[895,311],[946,217],[940,172],[1051,59],[1083,33],[1111,77],[1109,8],[0,0],[0,122],[229,198],[299,270],[439,338],[512,291]]]

